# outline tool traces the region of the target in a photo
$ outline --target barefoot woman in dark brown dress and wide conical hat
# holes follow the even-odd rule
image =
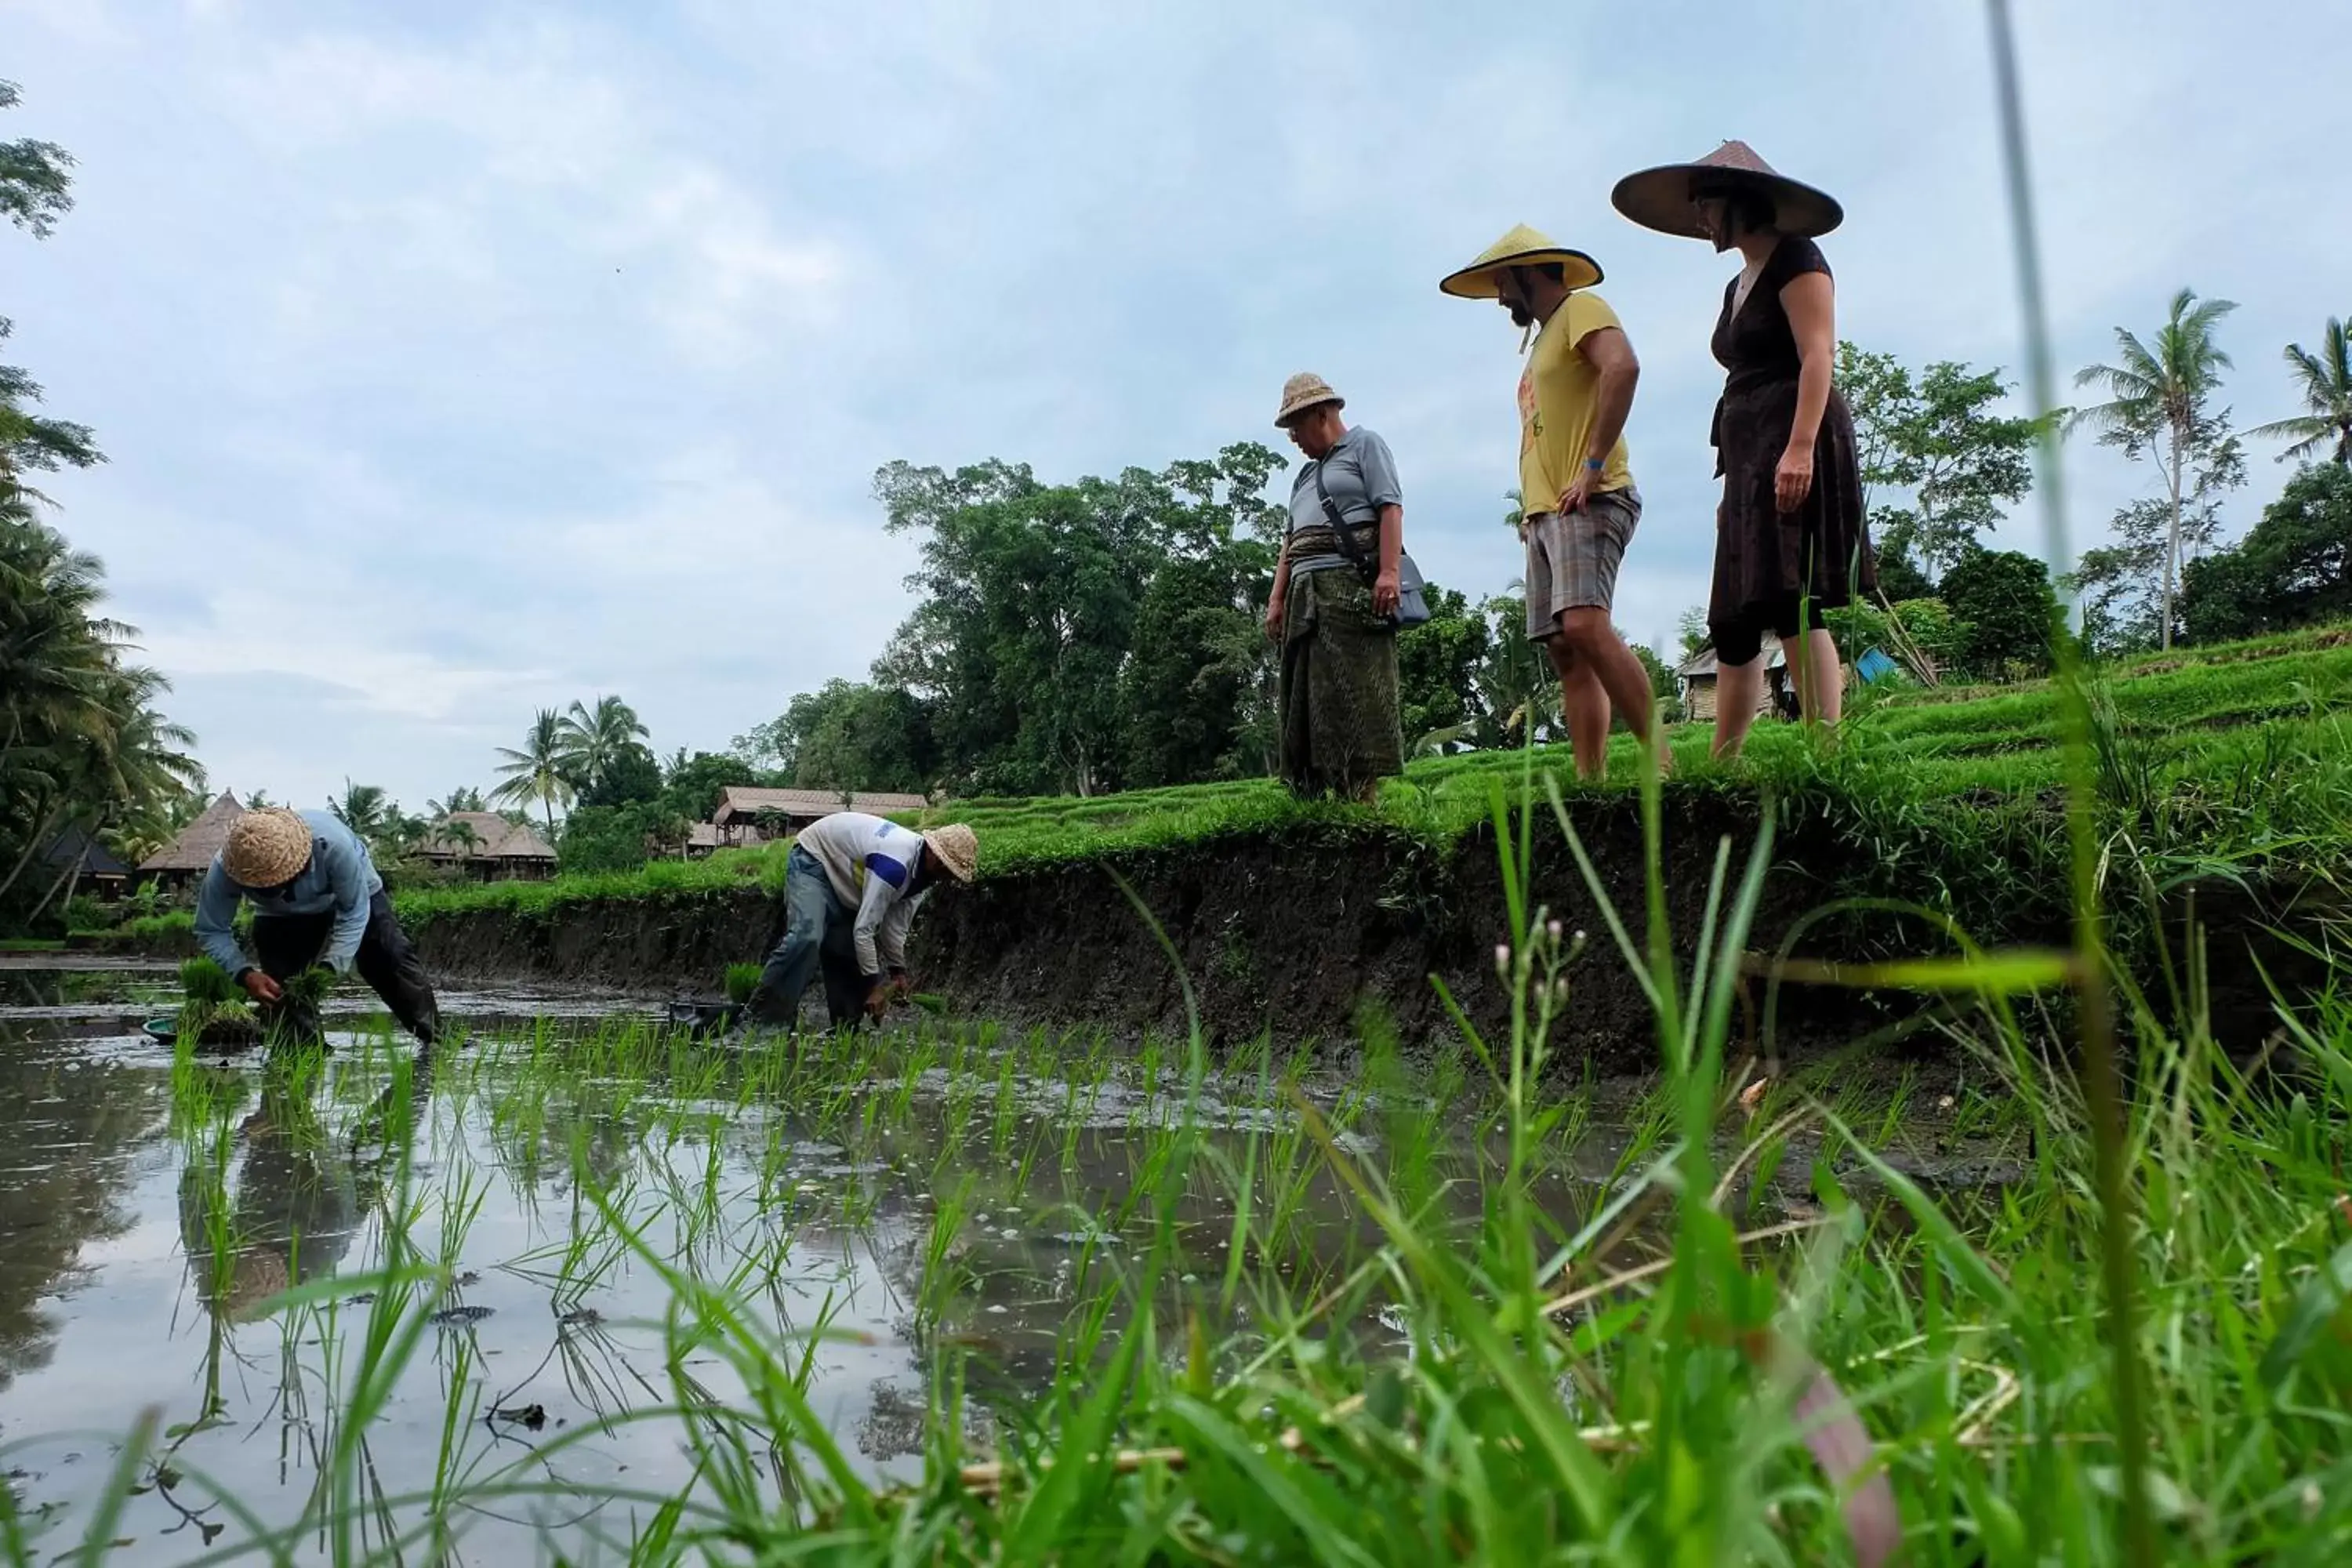
[[[1837,724],[1844,670],[1823,611],[1877,588],[1853,416],[1832,386],[1835,287],[1813,244],[1844,212],[1776,174],[1745,141],[1628,174],[1611,200],[1644,228],[1712,240],[1719,252],[1738,247],[1748,263],[1724,284],[1715,322],[1724,503],[1708,597],[1719,670],[1715,755],[1736,757],[1764,701],[1764,632],[1788,651],[1804,717]]]

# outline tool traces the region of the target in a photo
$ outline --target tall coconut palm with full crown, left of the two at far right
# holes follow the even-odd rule
[[[2086,364],[2074,386],[2098,386],[2107,402],[2067,414],[2067,430],[2093,425],[2100,440],[2122,447],[2124,456],[2154,456],[2171,491],[2171,527],[2164,538],[2164,646],[2173,646],[2173,597],[2180,581],[2180,491],[2190,461],[2223,440],[2220,421],[2206,414],[2206,400],[2230,369],[2230,355],[2213,341],[2220,317],[2237,301],[2197,299],[2194,289],[2173,296],[2171,315],[2154,341],[2143,343],[2129,329],[2114,329],[2117,362]]]

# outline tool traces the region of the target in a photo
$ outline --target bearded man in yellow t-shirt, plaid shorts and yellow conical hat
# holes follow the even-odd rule
[[[1644,748],[1658,710],[1649,672],[1609,618],[1642,491],[1625,458],[1625,416],[1642,364],[1599,294],[1599,266],[1524,223],[1439,289],[1501,303],[1536,331],[1519,376],[1519,534],[1526,541],[1526,635],[1559,672],[1576,771],[1609,766],[1611,708]]]

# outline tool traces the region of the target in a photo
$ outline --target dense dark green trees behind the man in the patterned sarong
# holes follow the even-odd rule
[[[1263,632],[1287,461],[1214,458],[1049,484],[1030,468],[875,475],[884,527],[920,541],[920,602],[863,682],[835,679],[734,741],[811,790],[1098,795],[1272,769]],[[1557,686],[1512,597],[1430,585],[1399,639],[1421,750],[1550,738]],[[1663,696],[1672,675],[1653,663]]]

